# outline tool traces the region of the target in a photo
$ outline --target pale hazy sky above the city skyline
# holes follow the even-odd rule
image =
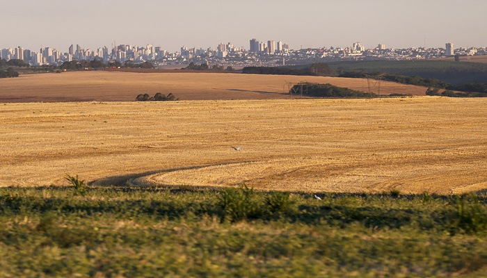
[[[0,48],[487,47],[487,0],[1,0]]]

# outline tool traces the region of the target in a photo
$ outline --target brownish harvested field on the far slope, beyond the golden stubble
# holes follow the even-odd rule
[[[287,83],[309,81],[331,83],[368,92],[366,79],[319,76],[271,76],[205,72],[62,72],[26,74],[0,79],[0,102],[134,101],[136,96],[173,93],[181,100],[209,99],[289,99]],[[371,83],[378,92],[378,84]],[[381,82],[381,94],[425,95],[426,88]]]

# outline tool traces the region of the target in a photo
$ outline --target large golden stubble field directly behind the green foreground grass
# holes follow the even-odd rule
[[[97,185],[485,190],[486,108],[440,97],[0,104],[0,186],[79,174]]]

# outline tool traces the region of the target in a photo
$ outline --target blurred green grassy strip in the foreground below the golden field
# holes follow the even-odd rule
[[[486,195],[0,189],[0,277],[482,277]]]

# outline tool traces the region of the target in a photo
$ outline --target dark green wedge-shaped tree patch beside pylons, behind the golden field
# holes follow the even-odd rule
[[[360,92],[356,90],[351,90],[349,88],[342,88],[337,87],[335,85],[331,85],[330,83],[326,84],[316,84],[316,83],[305,83],[308,87],[308,96],[311,97],[377,97],[378,95],[374,94],[373,92]],[[289,93],[292,92],[299,92],[301,84],[294,85]]]

